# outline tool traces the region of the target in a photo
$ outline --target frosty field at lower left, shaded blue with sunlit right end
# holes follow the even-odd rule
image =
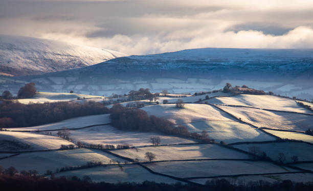
[[[18,171],[37,170],[40,174],[44,174],[47,170],[55,172],[56,169],[62,167],[77,167],[86,165],[86,162],[90,161],[101,161],[107,164],[110,160],[118,159],[102,151],[73,149],[21,153],[17,156],[1,160],[0,164],[5,168],[15,167]]]

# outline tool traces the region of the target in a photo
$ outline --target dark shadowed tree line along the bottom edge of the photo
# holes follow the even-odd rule
[[[207,181],[205,185],[199,184],[167,184],[156,183],[151,181],[144,181],[142,183],[135,182],[119,182],[119,183],[106,183],[106,182],[93,182],[88,176],[79,178],[77,176],[72,177],[54,177],[50,179],[40,176],[28,176],[22,174],[14,174],[12,176],[7,174],[0,175],[0,185],[2,190],[25,190],[25,191],[41,191],[41,190],[94,190],[94,191],[113,191],[113,190],[129,190],[129,191],[220,191],[220,190],[232,190],[232,191],[310,191],[313,189],[312,182],[292,182],[290,180],[276,181],[273,183],[259,180],[251,181],[248,183],[234,183],[227,179],[213,179]]]

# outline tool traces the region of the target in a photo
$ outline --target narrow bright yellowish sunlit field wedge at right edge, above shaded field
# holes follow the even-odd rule
[[[299,133],[299,132],[287,132],[287,131],[276,131],[276,130],[269,130],[264,129],[266,132],[276,135],[281,139],[293,139],[293,140],[300,140],[308,143],[313,143],[313,136]]]

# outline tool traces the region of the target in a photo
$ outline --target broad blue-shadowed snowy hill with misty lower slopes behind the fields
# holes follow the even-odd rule
[[[17,78],[2,79],[0,91],[19,88]],[[149,88],[152,92],[167,89],[170,93],[193,93],[220,89],[229,82],[233,86],[247,85],[276,94],[313,99],[313,49],[190,49],[121,57],[19,80],[34,81],[40,91],[74,90],[104,96],[139,88]]]

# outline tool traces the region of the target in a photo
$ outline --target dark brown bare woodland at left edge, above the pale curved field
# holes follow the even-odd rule
[[[46,102],[22,104],[16,101],[0,102],[0,127],[29,127],[54,123],[73,117],[108,114],[101,102]]]

